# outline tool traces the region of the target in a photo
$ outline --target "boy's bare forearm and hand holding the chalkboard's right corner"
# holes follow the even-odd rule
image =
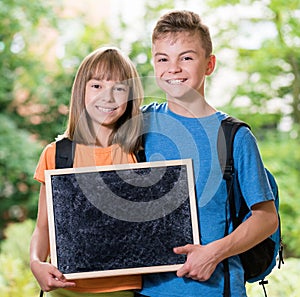
[[[220,262],[255,246],[273,234],[277,227],[278,215],[274,201],[255,204],[252,215],[226,237],[207,245],[188,244],[175,248],[175,253],[187,255],[177,276],[206,281]]]

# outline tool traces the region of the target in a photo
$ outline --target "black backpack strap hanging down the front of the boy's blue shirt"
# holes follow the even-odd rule
[[[233,117],[227,117],[221,122],[218,133],[217,150],[218,157],[223,173],[223,178],[226,180],[227,199],[229,202],[230,216],[233,221],[234,228],[237,227],[236,207],[234,201],[233,181],[234,181],[234,160],[233,160],[233,141],[237,130],[241,126],[249,127],[246,123]],[[250,127],[249,127],[250,128]],[[227,217],[227,216],[226,216]],[[226,220],[224,236],[229,233],[229,222]],[[223,260],[224,266],[224,297],[230,297],[230,272],[228,259]]]

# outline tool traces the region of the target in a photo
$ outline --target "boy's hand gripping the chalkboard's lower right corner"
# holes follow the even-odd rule
[[[174,253],[187,255],[184,265],[178,269],[178,277],[188,277],[197,281],[208,280],[215,271],[218,260],[209,245],[193,245],[174,248]]]

